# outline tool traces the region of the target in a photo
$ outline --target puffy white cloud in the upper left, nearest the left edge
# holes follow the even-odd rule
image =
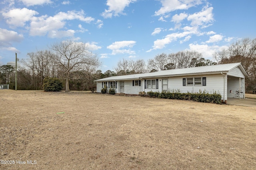
[[[2,15],[6,19],[6,23],[13,25],[15,27],[23,27],[27,21],[39,14],[34,10],[29,10],[27,8],[16,8],[8,12],[3,12]]]

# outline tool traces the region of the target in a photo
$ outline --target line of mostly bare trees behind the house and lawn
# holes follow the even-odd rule
[[[97,55],[88,51],[84,43],[62,41],[55,43],[48,50],[28,53],[22,60],[24,65],[18,69],[18,89],[42,90],[46,77],[56,77],[65,84],[66,92],[70,90],[95,90],[96,79],[110,76],[156,72],[160,70],[208,66],[225,63],[242,63],[249,77],[246,78],[246,90],[256,90],[256,39],[241,39],[232,43],[227,49],[214,52],[216,60],[204,59],[196,51],[179,51],[177,53],[161,53],[147,63],[143,59],[122,59],[114,66],[113,71],[102,72]],[[0,84],[10,84],[14,89],[14,68],[0,66]]]

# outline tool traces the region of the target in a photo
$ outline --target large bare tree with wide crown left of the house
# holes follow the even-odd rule
[[[78,79],[81,77],[81,70],[97,68],[101,64],[97,55],[89,52],[88,46],[82,42],[62,41],[51,45],[50,49],[56,52],[53,60],[58,64],[61,76],[66,80],[66,92],[70,92],[71,78]]]

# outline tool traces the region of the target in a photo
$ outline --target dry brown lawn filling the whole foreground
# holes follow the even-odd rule
[[[14,90],[0,105],[1,170],[256,169],[255,107]]]

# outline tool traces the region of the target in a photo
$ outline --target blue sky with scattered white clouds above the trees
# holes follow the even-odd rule
[[[114,70],[121,59],[194,50],[205,59],[256,38],[254,0],[1,0],[0,65],[71,39]]]

